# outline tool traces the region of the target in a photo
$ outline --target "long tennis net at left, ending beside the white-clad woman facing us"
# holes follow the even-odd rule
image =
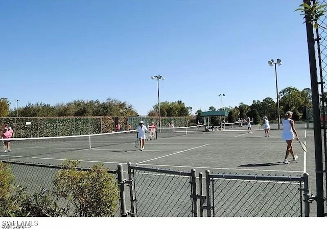
[[[66,151],[78,151],[94,149],[110,145],[126,144],[134,142],[137,130],[119,131],[103,134],[89,134],[60,137],[30,137],[30,138],[2,138],[2,144],[10,141],[10,154],[19,156],[34,156],[41,154],[53,154]],[[1,149],[2,155],[7,155]]]

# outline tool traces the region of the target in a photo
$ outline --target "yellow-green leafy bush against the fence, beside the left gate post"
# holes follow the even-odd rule
[[[78,170],[79,161],[66,160],[54,181],[57,197],[68,200],[67,209],[74,209],[74,216],[113,216],[119,189],[112,174],[103,165],[93,165],[89,170]],[[71,208],[73,207],[73,208]]]

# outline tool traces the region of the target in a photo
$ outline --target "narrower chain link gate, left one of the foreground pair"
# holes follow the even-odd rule
[[[137,217],[197,217],[195,169],[191,172],[128,163],[131,212]]]

